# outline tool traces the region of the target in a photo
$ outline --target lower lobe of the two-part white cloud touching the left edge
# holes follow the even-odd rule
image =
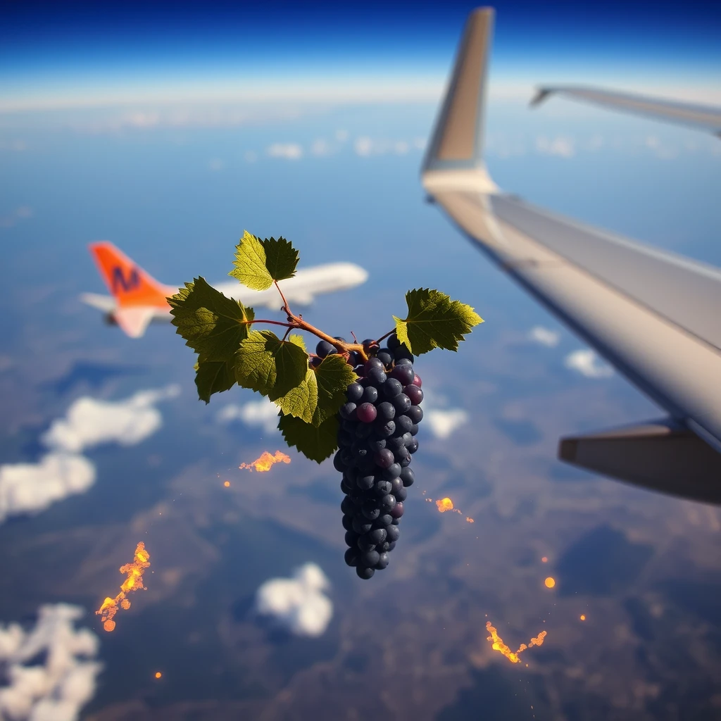
[[[95,466],[85,456],[45,454],[37,463],[0,466],[0,521],[37,513],[68,495],[84,493],[95,482]]]

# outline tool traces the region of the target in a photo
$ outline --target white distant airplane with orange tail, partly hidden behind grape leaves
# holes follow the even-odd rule
[[[107,322],[118,324],[131,338],[141,337],[151,322],[170,322],[166,298],[177,293],[180,286],[159,283],[110,242],[91,243],[89,249],[112,295],[82,293],[81,301],[102,311]],[[288,303],[306,306],[315,296],[354,288],[367,279],[368,273],[358,265],[327,263],[301,268],[293,278],[280,280],[279,285]],[[237,280],[217,283],[214,287],[243,304],[280,309],[280,296],[275,288],[252,291]]]

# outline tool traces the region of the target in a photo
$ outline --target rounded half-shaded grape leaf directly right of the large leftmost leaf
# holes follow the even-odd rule
[[[304,348],[295,341],[280,340],[270,330],[250,331],[235,360],[238,384],[272,401],[300,385],[308,370]]]

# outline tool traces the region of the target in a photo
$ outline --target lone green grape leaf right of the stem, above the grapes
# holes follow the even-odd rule
[[[398,340],[415,355],[433,348],[458,350],[459,340],[483,322],[471,306],[451,301],[446,293],[420,288],[406,293],[408,315],[404,320],[393,317]]]

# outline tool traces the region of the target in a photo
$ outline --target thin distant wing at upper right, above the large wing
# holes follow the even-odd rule
[[[586,100],[614,110],[647,115],[657,120],[667,120],[678,125],[689,125],[721,137],[721,107],[691,105],[631,93],[568,85],[540,87],[531,100],[531,105],[540,105],[547,97],[555,94]]]

